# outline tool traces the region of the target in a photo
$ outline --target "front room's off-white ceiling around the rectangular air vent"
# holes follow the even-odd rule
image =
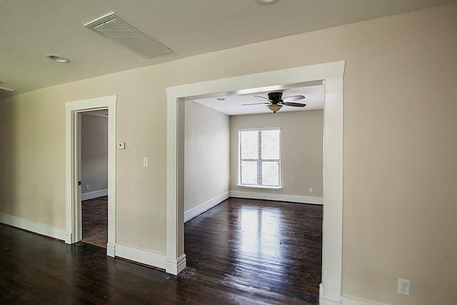
[[[0,86],[30,91],[453,0],[0,0]],[[84,28],[116,12],[172,50],[143,58]],[[68,64],[46,59],[65,56]]]

